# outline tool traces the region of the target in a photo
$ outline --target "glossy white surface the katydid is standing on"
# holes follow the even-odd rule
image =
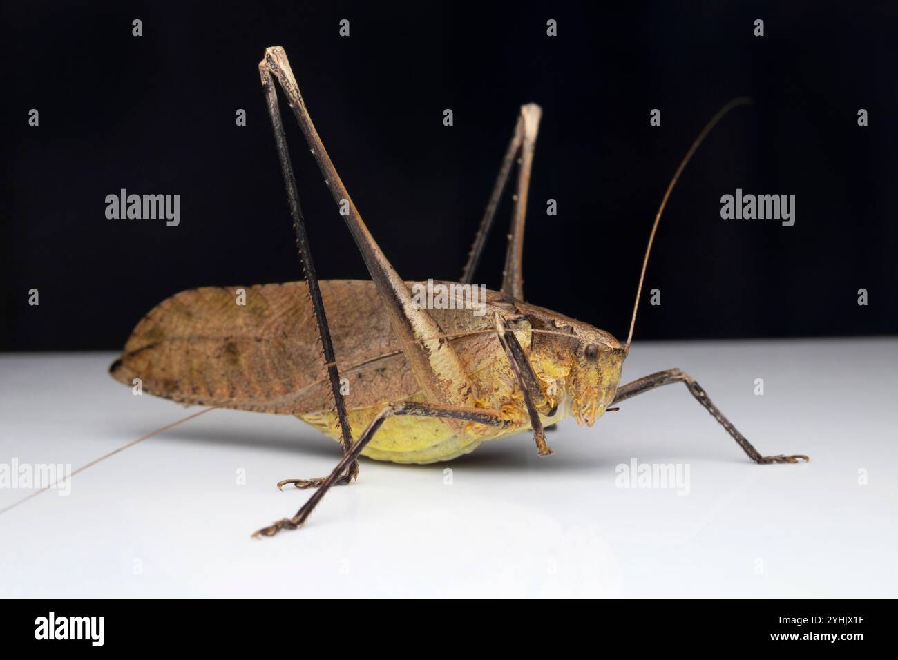
[[[0,356],[0,463],[77,468],[198,410],[133,396],[113,357]],[[339,446],[215,410],[0,516],[0,595],[898,595],[898,340],[637,343],[624,380],[673,366],[762,453],[811,462],[754,465],[671,385],[565,422],[546,459],[516,436],[445,464],[365,460],[304,529],[253,541],[308,497],[275,482],[328,473]],[[634,458],[688,465],[689,494],[616,488]]]

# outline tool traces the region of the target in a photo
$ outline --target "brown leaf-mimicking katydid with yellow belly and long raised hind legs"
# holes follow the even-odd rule
[[[304,524],[334,484],[358,475],[358,457],[401,463],[449,461],[480,444],[524,431],[541,456],[551,452],[544,428],[573,417],[592,426],[621,401],[684,383],[745,453],[758,463],[807,461],[764,456],[724,417],[689,375],[668,369],[620,385],[648,256],[671,190],[704,137],[735,106],[709,121],[674,173],[658,208],[642,263],[627,340],[559,312],[524,302],[523,245],[539,106],[521,108],[460,282],[470,291],[497,206],[517,164],[511,233],[500,291],[478,313],[464,301],[418,304],[362,220],[321,143],[283,48],[267,48],[259,65],[277,154],[293,218],[304,281],[201,287],[173,295],[146,314],[110,368],[145,392],[186,404],[295,415],[342,444],[326,478],[289,479],[281,488],[317,488],[290,518],[260,529],[271,536]],[[361,252],[370,281],[319,281],[278,110],[275,81],[286,96],[325,183]],[[464,288],[467,286],[468,288]]]

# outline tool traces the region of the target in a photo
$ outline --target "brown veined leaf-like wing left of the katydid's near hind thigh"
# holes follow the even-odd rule
[[[243,305],[237,304],[240,288]],[[346,375],[353,394],[348,407],[413,394],[414,377],[374,284],[322,281],[321,296],[340,369],[357,367]],[[126,384],[140,378],[146,392],[183,403],[284,414],[332,406],[303,282],[203,286],[172,295],[137,324],[110,373]]]

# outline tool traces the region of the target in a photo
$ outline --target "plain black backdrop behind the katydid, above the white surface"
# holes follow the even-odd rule
[[[403,277],[460,275],[535,101],[526,297],[624,339],[668,180],[748,94],[674,190],[647,274],[662,304],[643,299],[636,339],[898,332],[894,3],[124,5],[4,3],[2,349],[119,348],[181,289],[299,277],[257,70],[273,45]],[[282,112],[320,276],[367,277]],[[107,219],[122,188],[180,194],[180,226]],[[795,194],[797,223],[722,220],[736,188]],[[499,285],[509,215],[506,199],[478,283]]]

